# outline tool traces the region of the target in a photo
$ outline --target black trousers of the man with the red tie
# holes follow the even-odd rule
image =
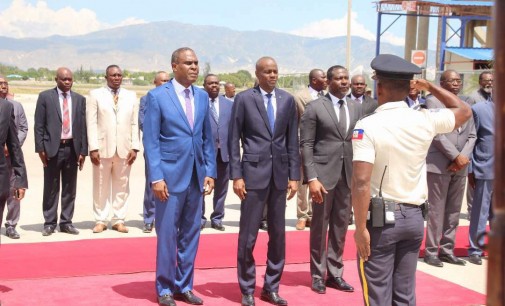
[[[60,226],[72,224],[75,193],[77,189],[78,162],[72,142],[60,145],[58,153],[50,158],[44,168],[44,195],[42,210],[44,226],[58,223],[58,198],[61,177]]]

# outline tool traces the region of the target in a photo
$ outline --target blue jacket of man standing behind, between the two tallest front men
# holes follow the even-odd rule
[[[224,96],[219,96],[218,103],[219,125],[209,111],[210,126],[212,128],[212,136],[214,137],[214,147],[216,148],[216,153],[219,147],[221,149],[221,160],[227,163],[230,160],[230,156],[228,154],[228,131],[230,127],[231,108],[233,107],[233,102],[226,99]]]

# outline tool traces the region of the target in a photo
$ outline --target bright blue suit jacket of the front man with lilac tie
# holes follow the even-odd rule
[[[217,176],[208,116],[209,96],[198,87],[191,87],[195,102],[193,129],[172,82],[147,94],[143,142],[149,181],[164,179],[169,193],[180,193],[188,188],[193,168],[196,168],[202,191],[204,178]]]

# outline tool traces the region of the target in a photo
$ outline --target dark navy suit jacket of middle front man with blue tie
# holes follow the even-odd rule
[[[273,179],[279,190],[300,180],[298,113],[293,96],[275,89],[277,112],[272,134],[259,87],[235,96],[229,135],[230,179],[243,178],[246,189],[265,189]],[[240,158],[240,143],[243,154]]]

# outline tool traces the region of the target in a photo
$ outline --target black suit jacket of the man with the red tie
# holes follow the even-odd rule
[[[86,99],[70,92],[72,99],[72,137],[77,156],[88,155],[86,131]],[[55,88],[39,94],[35,108],[35,152],[45,151],[48,158],[58,153],[61,140],[62,114],[58,91]]]

